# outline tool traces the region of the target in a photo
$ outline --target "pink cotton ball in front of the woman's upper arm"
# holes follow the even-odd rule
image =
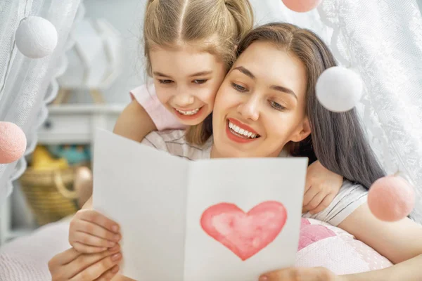
[[[381,221],[399,221],[414,208],[415,191],[404,178],[385,176],[369,189],[368,204]]]

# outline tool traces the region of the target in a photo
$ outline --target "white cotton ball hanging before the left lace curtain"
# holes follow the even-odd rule
[[[28,58],[44,58],[57,46],[57,30],[45,18],[28,17],[20,22],[15,41],[19,51]]]

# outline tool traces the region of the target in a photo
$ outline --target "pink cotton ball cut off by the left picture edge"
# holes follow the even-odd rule
[[[0,164],[15,162],[26,150],[26,136],[19,126],[0,122]]]

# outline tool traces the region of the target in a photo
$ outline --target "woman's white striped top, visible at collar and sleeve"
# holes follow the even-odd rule
[[[204,145],[191,145],[184,138],[184,130],[153,131],[141,142],[158,150],[169,152],[172,155],[190,160],[210,158],[212,138]],[[289,157],[286,152],[281,152],[279,157]],[[362,185],[344,181],[338,195],[333,202],[318,214],[303,214],[304,218],[315,218],[319,221],[338,226],[354,210],[366,202],[368,191]]]

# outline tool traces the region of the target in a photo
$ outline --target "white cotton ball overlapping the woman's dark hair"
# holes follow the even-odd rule
[[[316,98],[332,112],[346,112],[362,98],[362,79],[345,67],[330,67],[316,81]]]

